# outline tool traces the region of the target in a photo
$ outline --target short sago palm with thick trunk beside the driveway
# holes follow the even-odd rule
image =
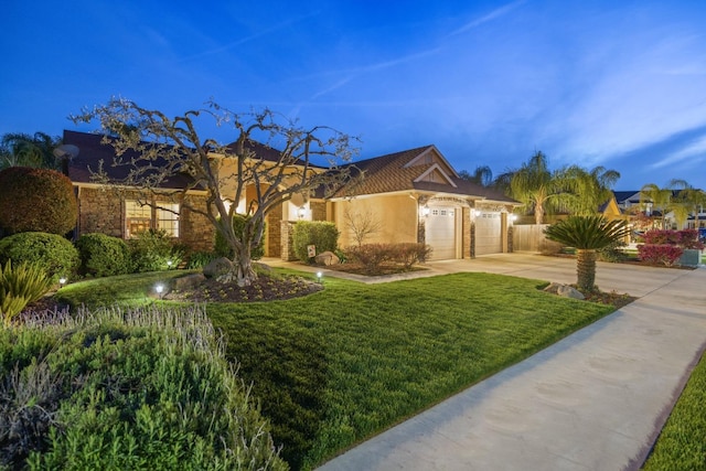
[[[624,221],[606,221],[602,216],[569,216],[544,231],[549,240],[576,248],[576,285],[579,291],[596,289],[597,251],[630,234]]]

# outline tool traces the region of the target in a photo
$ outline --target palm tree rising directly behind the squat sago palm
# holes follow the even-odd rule
[[[600,165],[590,171],[571,165],[561,175],[569,191],[567,206],[577,216],[595,215],[600,205],[610,200],[611,189],[620,179],[619,172]]]

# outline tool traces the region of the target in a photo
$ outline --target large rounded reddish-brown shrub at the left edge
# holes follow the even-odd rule
[[[8,234],[65,235],[76,225],[78,205],[68,178],[49,169],[0,171],[0,227]]]

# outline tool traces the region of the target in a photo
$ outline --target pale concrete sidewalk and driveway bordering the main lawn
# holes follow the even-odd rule
[[[526,254],[430,267],[576,281]],[[597,285],[641,298],[320,469],[639,469],[704,350],[706,269],[601,264]]]

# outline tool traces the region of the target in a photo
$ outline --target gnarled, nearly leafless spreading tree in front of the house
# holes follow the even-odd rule
[[[201,138],[196,130],[201,117],[212,117],[217,126],[232,127],[234,141],[225,146],[215,139]],[[94,175],[97,181],[133,186],[146,195],[164,194],[165,181],[188,172],[190,183],[172,195],[182,196],[184,207],[205,215],[223,235],[234,257],[233,271],[221,280],[236,281],[239,286],[257,279],[250,250],[263,238],[267,214],[296,194],[308,197],[314,189],[339,188],[349,178],[347,170],[339,167],[339,162],[351,160],[357,151],[351,148],[355,138],[335,129],[302,128],[267,108],[236,114],[213,101],[204,109],[170,118],[162,111],[113,98],[106,105],[82,110],[72,119],[74,122],[97,120],[104,133],[113,135],[104,138],[105,143],[115,148],[113,164],[129,169],[128,175],[119,181],[109,180],[99,169]],[[264,152],[255,151],[256,139]],[[126,154],[129,150],[137,153]],[[135,154],[137,157],[127,157]],[[317,165],[313,160],[325,167]],[[208,190],[205,210],[183,197],[193,189]],[[237,204],[250,193],[254,196],[246,201],[243,214],[247,216],[245,227],[242,234],[236,234],[232,221]],[[159,207],[159,203],[151,205]]]

